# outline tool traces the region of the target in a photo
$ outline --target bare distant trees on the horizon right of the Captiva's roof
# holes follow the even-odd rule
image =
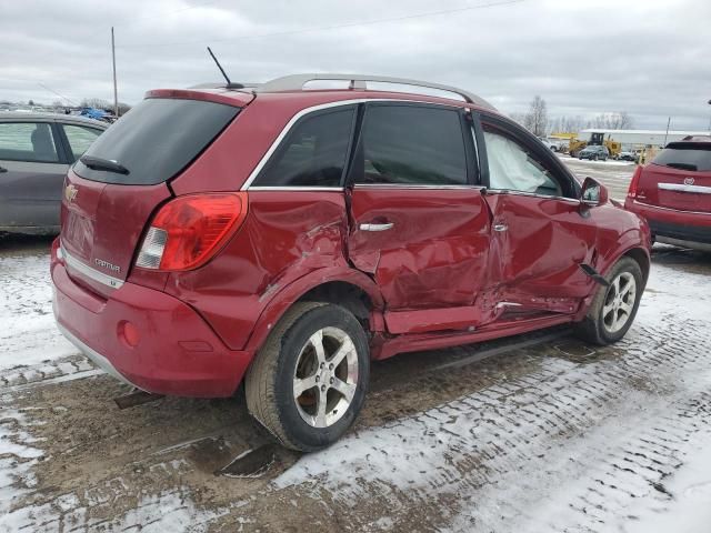
[[[584,119],[581,115],[561,115],[549,119],[545,100],[540,95],[533,97],[527,112],[511,113],[510,117],[537,137],[545,137],[552,132],[575,133],[593,128],[603,130],[634,128],[634,120],[627,111],[600,113],[592,119]]]

